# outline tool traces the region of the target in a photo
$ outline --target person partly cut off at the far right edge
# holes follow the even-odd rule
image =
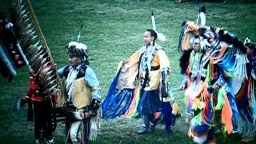
[[[247,77],[242,81],[242,86],[238,87],[236,102],[240,117],[238,118],[238,133],[242,135],[242,142],[254,140],[256,130],[256,102],[255,102],[255,62],[256,44],[246,38],[244,42],[248,63],[246,65]],[[240,80],[241,81],[241,80]],[[235,85],[234,85],[235,86]]]

